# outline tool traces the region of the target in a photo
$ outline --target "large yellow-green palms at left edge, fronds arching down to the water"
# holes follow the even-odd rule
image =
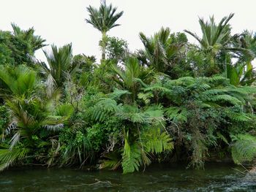
[[[38,139],[39,134],[49,129],[61,128],[63,119],[51,115],[51,100],[45,99],[42,83],[37,73],[31,69],[24,66],[15,69],[1,68],[0,82],[1,98],[10,110],[10,126],[5,132],[12,135],[10,146],[1,146],[0,149],[1,171],[15,161],[26,158],[40,143],[45,145],[47,142],[42,137]],[[19,145],[20,142],[23,144]]]

